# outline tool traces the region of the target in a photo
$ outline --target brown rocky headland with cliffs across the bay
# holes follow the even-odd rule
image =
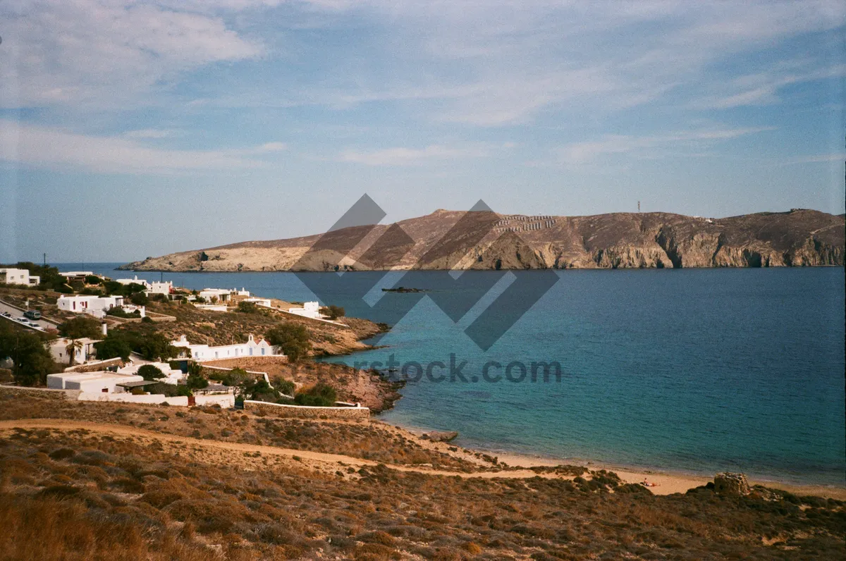
[[[843,215],[794,210],[700,218],[665,212],[525,217],[437,211],[321,238],[149,257],[138,271],[332,271],[843,266]]]

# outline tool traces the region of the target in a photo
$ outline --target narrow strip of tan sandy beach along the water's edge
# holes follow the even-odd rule
[[[425,432],[431,432],[430,429],[420,428],[419,426],[405,426],[397,425],[404,431],[411,432],[415,436],[420,436]],[[427,448],[445,448],[446,443],[428,443],[427,441],[420,441],[425,443]],[[497,457],[500,463],[505,463],[509,467],[536,467],[536,466],[552,466],[552,465],[583,465],[590,470],[608,470],[616,473],[620,479],[626,483],[640,483],[648,481],[655,483],[655,487],[649,487],[649,490],[656,495],[671,495],[676,492],[687,492],[688,489],[700,487],[713,481],[713,476],[696,476],[688,473],[673,472],[667,470],[651,470],[644,468],[633,468],[624,466],[615,466],[607,464],[596,464],[584,460],[574,459],[556,459],[544,456],[536,456],[531,454],[514,454],[503,452],[501,450],[491,450],[484,448],[466,448],[472,452],[481,452]],[[764,487],[772,487],[774,489],[781,489],[783,491],[792,492],[794,495],[816,495],[817,497],[836,498],[838,500],[846,500],[846,487],[829,487],[824,485],[793,485],[783,483],[781,481],[770,481],[754,479],[750,480],[750,485],[763,485]]]

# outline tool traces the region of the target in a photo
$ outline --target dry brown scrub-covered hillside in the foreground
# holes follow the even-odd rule
[[[29,406],[42,412],[38,404]],[[109,414],[136,422],[143,415],[161,419],[167,410],[130,409]],[[87,407],[60,413],[79,419],[92,415]],[[343,447],[344,440],[354,448],[371,439],[374,453],[391,456],[409,445],[377,430],[358,434],[362,427],[355,425],[299,421],[277,435],[273,423],[249,415],[229,419],[226,413],[179,413],[183,416],[171,408],[169,421],[146,422],[158,426],[179,419],[169,425],[171,430],[203,426],[201,432],[211,432],[211,421],[230,420],[244,425],[233,437],[251,434],[265,443],[279,438],[304,449]],[[338,466],[332,472],[310,470],[296,459],[224,459],[200,454],[181,441],[83,430],[7,432],[0,440],[0,558],[756,559],[846,554],[843,502],[761,487],[745,498],[722,498],[706,487],[657,497],[644,487],[621,485],[607,472],[572,481],[542,476],[482,480],[404,473],[382,465]]]

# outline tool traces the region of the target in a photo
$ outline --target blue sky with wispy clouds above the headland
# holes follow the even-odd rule
[[[0,262],[470,209],[842,213],[846,4],[3,0]]]

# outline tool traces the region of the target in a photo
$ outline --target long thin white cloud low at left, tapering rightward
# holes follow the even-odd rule
[[[261,168],[268,164],[263,156],[284,148],[281,142],[269,142],[239,150],[164,150],[122,136],[79,135],[0,119],[0,161],[36,167],[98,173]]]

